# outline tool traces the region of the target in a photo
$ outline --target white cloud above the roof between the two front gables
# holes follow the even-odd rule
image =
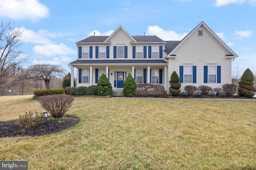
[[[172,40],[172,41],[180,41],[182,40],[188,33],[175,33],[174,31],[165,31],[164,29],[155,26],[149,26],[148,35],[156,35],[164,41]]]

